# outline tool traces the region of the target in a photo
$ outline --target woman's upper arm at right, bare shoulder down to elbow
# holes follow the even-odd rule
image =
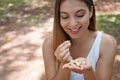
[[[96,67],[97,80],[111,80],[116,49],[116,40],[112,36],[104,34]]]

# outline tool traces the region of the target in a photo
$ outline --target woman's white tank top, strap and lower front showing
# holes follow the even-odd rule
[[[96,70],[96,63],[99,58],[101,38],[102,38],[102,32],[98,31],[97,36],[92,45],[92,48],[87,56],[87,59],[89,59],[92,63],[92,67],[94,71]],[[78,73],[71,71],[70,80],[84,80],[84,77],[83,77],[83,74],[78,74]]]

